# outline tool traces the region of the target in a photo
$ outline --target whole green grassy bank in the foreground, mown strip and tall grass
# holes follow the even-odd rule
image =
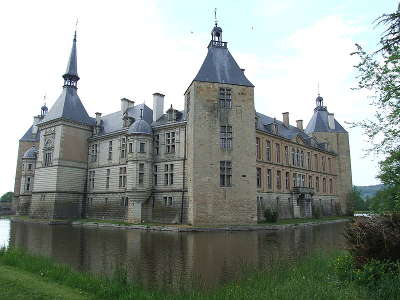
[[[0,299],[373,299],[363,289],[336,278],[332,262],[339,254],[315,254],[295,265],[248,274],[216,290],[183,294],[136,286],[122,271],[105,279],[75,272],[47,258],[3,249]],[[35,297],[24,298],[32,291]]]

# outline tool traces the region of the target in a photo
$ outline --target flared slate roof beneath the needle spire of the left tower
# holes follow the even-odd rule
[[[84,125],[94,125],[95,119],[89,117],[76,88],[65,86],[57,101],[50,108],[41,123],[56,119],[65,119]]]

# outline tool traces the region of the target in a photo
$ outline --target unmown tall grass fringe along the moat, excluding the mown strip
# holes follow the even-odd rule
[[[0,249],[0,264],[25,270],[44,280],[77,288],[93,299],[369,299],[358,286],[339,281],[333,261],[341,253],[316,253],[299,263],[282,263],[262,272],[209,291],[166,292],[131,283],[128,272],[119,269],[106,279],[73,271],[51,259],[29,255],[17,249]],[[0,283],[1,285],[1,283]]]

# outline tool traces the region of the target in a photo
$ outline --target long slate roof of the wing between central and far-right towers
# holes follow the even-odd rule
[[[263,115],[258,112],[256,112],[256,117],[258,118],[258,123],[257,123],[258,130],[270,134],[275,134],[277,136],[289,140],[292,140],[293,138],[299,136],[306,145],[322,150],[327,150],[326,145],[324,143],[318,143],[318,141],[315,138],[313,138],[312,136],[308,135],[306,132],[300,130],[295,126],[289,125],[288,127],[286,127],[286,125],[282,121],[279,121],[275,118],[271,118],[269,116]],[[276,133],[273,132],[271,126],[272,124],[276,124],[278,127],[278,131]]]

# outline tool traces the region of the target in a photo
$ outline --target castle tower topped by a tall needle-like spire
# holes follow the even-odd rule
[[[94,119],[77,94],[76,32],[61,95],[38,124],[40,143],[30,215],[80,217],[85,197],[87,139]]]

